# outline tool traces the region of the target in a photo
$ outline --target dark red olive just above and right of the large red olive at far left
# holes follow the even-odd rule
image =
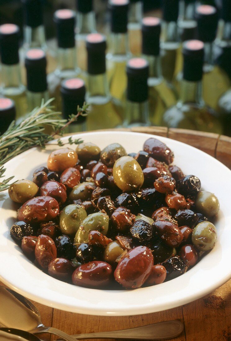
[[[59,205],[64,204],[67,200],[67,190],[64,184],[56,181],[46,181],[40,188],[41,196],[51,196],[56,199]]]

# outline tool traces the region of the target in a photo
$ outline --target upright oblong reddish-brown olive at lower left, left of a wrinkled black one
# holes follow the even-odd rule
[[[42,269],[47,269],[49,263],[57,257],[55,242],[48,236],[40,235],[35,247],[35,258]]]

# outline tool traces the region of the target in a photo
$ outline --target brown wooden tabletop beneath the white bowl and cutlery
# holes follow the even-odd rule
[[[231,168],[231,138],[217,134],[162,127],[135,128],[132,131],[167,136],[186,142],[216,157]],[[200,283],[198,283],[200,285]],[[178,308],[146,314],[119,317],[90,316],[64,312],[34,302],[46,326],[69,334],[112,331],[150,323],[179,319],[185,331],[174,341],[231,341],[231,280],[213,293]],[[135,312],[134,312],[135,313]],[[43,340],[55,340],[48,334]]]

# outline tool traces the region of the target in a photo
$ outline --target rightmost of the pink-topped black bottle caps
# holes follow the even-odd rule
[[[216,8],[210,5],[200,5],[196,8],[195,17],[198,24],[197,38],[203,42],[214,41],[218,23]]]

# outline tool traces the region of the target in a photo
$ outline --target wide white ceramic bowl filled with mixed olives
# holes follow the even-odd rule
[[[170,309],[231,277],[231,171],[186,144],[81,133],[6,163],[1,280],[71,312]]]

